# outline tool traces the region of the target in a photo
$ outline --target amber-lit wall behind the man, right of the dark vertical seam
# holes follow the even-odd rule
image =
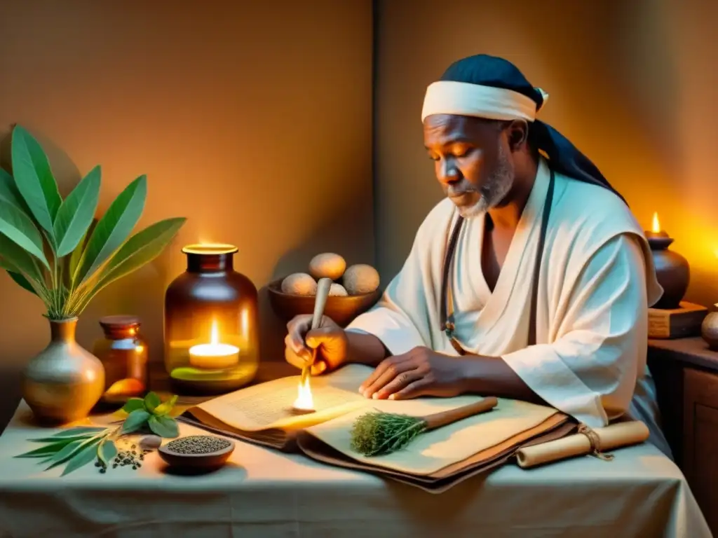
[[[691,263],[687,298],[718,301],[718,2],[379,2],[376,241],[395,274],[442,197],[423,149],[426,85],[480,52],[551,94],[542,119],[582,149],[651,225],[658,211]],[[407,203],[411,200],[411,203]]]

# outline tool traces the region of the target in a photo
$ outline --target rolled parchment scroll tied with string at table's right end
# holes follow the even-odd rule
[[[521,468],[536,467],[551,461],[587,454],[610,460],[613,456],[605,454],[607,450],[638,445],[646,439],[648,439],[648,428],[640,420],[595,429],[580,425],[579,433],[575,435],[518,449],[516,459]]]

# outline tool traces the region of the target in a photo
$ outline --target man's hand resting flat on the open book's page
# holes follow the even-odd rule
[[[376,400],[458,396],[463,391],[462,359],[415,347],[384,359],[359,388]]]

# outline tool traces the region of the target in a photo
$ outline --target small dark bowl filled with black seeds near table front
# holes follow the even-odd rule
[[[159,456],[172,467],[211,471],[229,459],[234,443],[218,435],[187,435],[157,449]]]

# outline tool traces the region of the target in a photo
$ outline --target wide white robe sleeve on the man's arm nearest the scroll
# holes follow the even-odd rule
[[[570,288],[551,344],[503,356],[549,405],[591,428],[608,424],[630,405],[645,371],[648,301],[645,259],[632,235],[605,242]],[[553,332],[553,331],[552,331]]]

